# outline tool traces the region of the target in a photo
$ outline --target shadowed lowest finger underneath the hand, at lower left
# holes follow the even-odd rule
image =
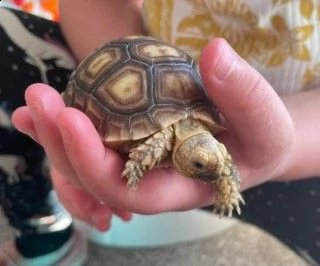
[[[51,173],[59,200],[72,216],[101,231],[110,228],[112,209],[109,206],[99,203],[90,194],[75,188],[55,168]]]

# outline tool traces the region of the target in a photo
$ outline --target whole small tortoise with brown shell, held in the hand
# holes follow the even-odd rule
[[[214,211],[240,213],[240,177],[225,146],[219,113],[207,98],[194,60],[145,36],[114,40],[85,58],[63,93],[84,112],[104,144],[127,158],[123,176],[136,188],[153,167],[214,183]]]

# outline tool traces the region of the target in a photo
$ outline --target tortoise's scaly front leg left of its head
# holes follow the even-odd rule
[[[173,128],[165,128],[130,150],[129,160],[122,172],[130,188],[135,189],[144,173],[159,165],[168,156],[172,150],[173,137]]]

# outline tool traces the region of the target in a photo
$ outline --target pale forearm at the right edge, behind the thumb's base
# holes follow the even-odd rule
[[[277,179],[320,176],[320,89],[286,96],[283,101],[293,119],[296,139],[287,167]]]

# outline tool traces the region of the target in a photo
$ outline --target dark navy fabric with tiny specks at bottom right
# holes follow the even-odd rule
[[[320,178],[269,182],[244,192],[241,219],[258,225],[320,265]]]

